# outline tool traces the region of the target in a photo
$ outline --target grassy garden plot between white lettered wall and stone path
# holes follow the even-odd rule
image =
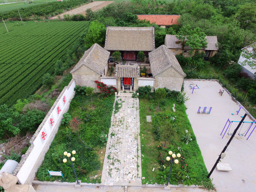
[[[78,180],[100,183],[106,148],[105,140],[100,138],[102,134],[108,135],[114,97],[99,99],[94,94],[92,101],[90,97],[75,95],[68,111],[70,117],[64,117],[68,125],[59,127],[36,174],[38,180],[75,182],[70,161],[63,163],[62,159],[66,157],[64,151],[76,150],[73,164]],[[51,179],[47,170],[62,171],[65,179],[57,176]]]

